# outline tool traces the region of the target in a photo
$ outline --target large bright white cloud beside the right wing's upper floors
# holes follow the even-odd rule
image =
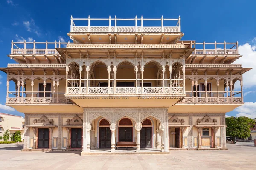
[[[240,63],[245,68],[254,68],[243,74],[243,87],[250,88],[256,85],[256,46],[246,43],[239,46],[239,54],[243,55],[234,63]]]

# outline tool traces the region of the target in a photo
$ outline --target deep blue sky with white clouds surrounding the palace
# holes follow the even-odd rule
[[[0,1],[0,67],[15,63],[6,55],[11,41],[67,42],[70,16],[75,18],[178,18],[181,17],[182,40],[197,42],[239,42],[243,55],[236,63],[256,67],[256,1],[84,1],[84,0],[1,0]],[[101,24],[101,23],[99,23]],[[105,23],[108,26],[108,23]],[[159,25],[157,25],[159,24]],[[160,26],[153,23],[152,26]],[[0,72],[0,112],[23,116],[6,107],[6,74]],[[245,105],[227,113],[229,116],[256,117],[256,71],[244,75]]]

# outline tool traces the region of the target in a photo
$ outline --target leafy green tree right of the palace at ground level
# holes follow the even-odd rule
[[[250,128],[253,127],[254,121],[245,116],[226,117],[226,135],[231,136],[233,141],[235,137],[250,137]]]

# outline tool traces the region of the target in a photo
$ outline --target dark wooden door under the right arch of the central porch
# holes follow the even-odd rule
[[[151,148],[152,145],[152,127],[142,127],[140,130],[140,147]]]

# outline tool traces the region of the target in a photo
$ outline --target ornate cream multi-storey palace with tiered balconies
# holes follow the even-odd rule
[[[182,40],[180,17],[70,21],[73,42],[12,41],[17,64],[0,68],[23,150],[227,149],[225,113],[244,104],[251,69],[232,64],[238,42]]]

